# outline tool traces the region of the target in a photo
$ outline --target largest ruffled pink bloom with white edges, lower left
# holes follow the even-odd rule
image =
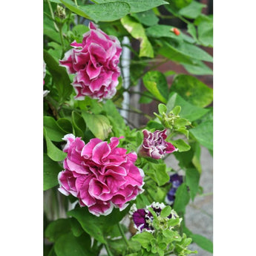
[[[125,148],[116,148],[119,138],[111,142],[97,138],[85,144],[79,137],[68,134],[63,151],[64,171],[59,173],[59,191],[72,194],[80,206],[88,206],[95,214],[110,214],[114,207],[120,211],[142,193],[144,173],[134,165],[137,154],[126,154]]]

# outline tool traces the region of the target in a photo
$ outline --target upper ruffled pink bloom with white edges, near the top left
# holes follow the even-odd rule
[[[74,49],[68,50],[59,63],[68,73],[76,74],[72,83],[76,99],[85,99],[86,95],[93,99],[110,99],[118,85],[117,65],[122,48],[116,36],[108,36],[92,22],[89,28],[82,43],[71,43]]]

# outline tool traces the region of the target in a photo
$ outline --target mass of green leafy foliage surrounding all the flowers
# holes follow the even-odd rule
[[[211,64],[213,58],[206,47],[213,46],[213,19],[202,13],[204,7],[205,4],[195,0],[44,1],[44,90],[50,93],[44,97],[43,189],[45,193],[55,194],[55,199],[45,207],[47,218],[57,216],[56,220],[49,217],[45,223],[44,237],[50,242],[44,246],[45,256],[96,256],[102,247],[108,256],[184,256],[196,253],[188,250],[192,240],[206,251],[213,251],[210,240],[193,234],[184,224],[180,226],[182,218],[177,216],[178,213],[185,218],[189,201],[203,189],[199,186],[204,171],[200,165],[200,148],[204,146],[213,152],[213,111],[209,107],[213,90],[195,77],[212,75],[206,62]],[[162,10],[171,15],[163,15]],[[174,17],[187,24],[186,29],[176,27],[179,35],[174,33],[170,22]],[[79,101],[74,99],[72,81],[76,75],[68,74],[66,68],[59,65],[59,59],[70,50],[70,43],[82,42],[83,35],[89,31],[85,25],[89,20],[108,35],[116,36],[122,47],[116,95],[101,102],[89,96]],[[123,43],[125,36],[131,44]],[[131,62],[127,66],[122,63],[126,60],[125,48],[131,50]],[[158,67],[169,61],[182,65],[188,74],[176,72],[172,67],[161,72]],[[130,71],[128,75],[125,68]],[[145,91],[134,88],[139,82],[143,82]],[[128,112],[148,119],[145,125],[136,127],[134,120],[120,114],[124,92],[130,96],[138,94],[139,103],[146,105],[146,109],[156,108],[158,113],[148,114],[134,106],[125,106]],[[68,205],[77,198],[62,196],[63,200],[56,189],[58,174],[64,169],[62,161],[67,157],[62,151],[63,137],[73,134],[85,143],[94,137],[108,142],[111,137],[123,137],[118,147],[125,148],[128,154],[138,153],[143,143],[143,129],[151,132],[166,129],[166,142],[177,148],[173,155],[179,169],[186,174],[183,184],[177,188],[173,206],[166,206],[159,216],[149,209],[154,215],[154,232],[125,238],[123,233],[128,232],[128,228],[120,222],[128,215],[131,203],[143,209],[153,202],[165,202],[171,188],[170,171],[179,171],[168,168],[165,158],[155,160],[137,154],[135,165],[145,174],[144,191],[133,202],[128,202],[126,209],[114,209],[111,214],[100,217],[91,214],[86,206],[76,205],[68,211]],[[59,218],[59,209],[65,210],[67,219]]]

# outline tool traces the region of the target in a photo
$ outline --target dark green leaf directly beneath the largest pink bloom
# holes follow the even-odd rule
[[[119,209],[114,209],[111,214],[107,216],[99,216],[96,217],[95,215],[91,214],[87,208],[85,207],[78,207],[71,211],[68,211],[68,216],[75,217],[76,220],[82,226],[82,229],[85,230],[88,234],[98,240],[100,243],[106,243],[105,240],[105,232],[110,229],[111,226],[116,225],[125,217],[129,208],[119,211]]]

